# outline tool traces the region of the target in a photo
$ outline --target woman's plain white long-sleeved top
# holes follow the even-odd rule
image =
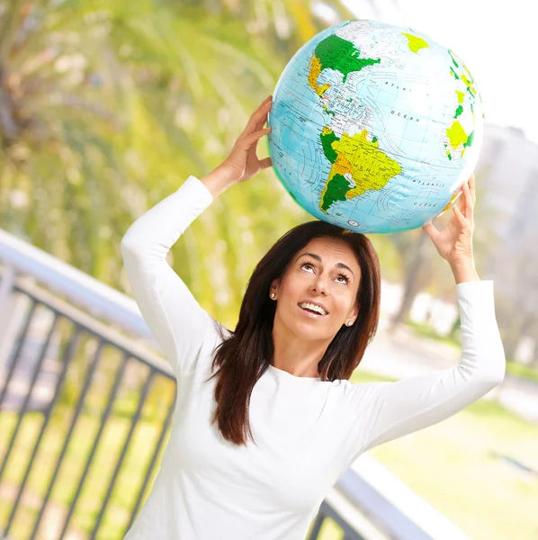
[[[250,440],[234,446],[210,423],[216,381],[203,383],[220,343],[215,321],[166,262],[170,247],[211,202],[211,192],[191,175],[121,240],[134,297],[177,378],[161,467],[125,539],[303,540],[327,491],[359,455],[447,419],[503,380],[493,282],[456,285],[459,365],[394,383],[358,384],[298,377],[269,365],[250,401],[257,446]]]

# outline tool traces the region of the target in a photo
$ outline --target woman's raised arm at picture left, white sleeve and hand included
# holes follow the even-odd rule
[[[141,215],[121,238],[121,255],[139,310],[175,374],[193,371],[202,343],[216,332],[214,320],[166,262],[184,230],[230,185],[270,166],[258,160],[259,129],[269,108],[265,100],[252,114],[229,157],[209,175],[191,175],[181,187]],[[211,340],[214,335],[211,337]]]

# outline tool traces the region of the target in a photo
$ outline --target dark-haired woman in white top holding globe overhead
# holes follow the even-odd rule
[[[447,229],[424,227],[456,281],[453,369],[347,380],[377,329],[380,268],[368,238],[322,221],[291,229],[256,266],[235,331],[202,310],[165,257],[220,193],[271,166],[256,157],[271,103],[220,166],[190,176],[121,240],[140,311],[177,377],[170,439],[129,540],[301,540],[358,455],[447,419],[504,378],[493,282],[473,263],[472,176]]]

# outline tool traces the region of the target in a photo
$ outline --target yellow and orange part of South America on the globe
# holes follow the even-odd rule
[[[344,133],[341,139],[335,140],[331,146],[337,157],[319,198],[320,208],[335,175],[351,175],[355,187],[345,193],[345,198],[353,199],[367,190],[380,190],[391,178],[401,173],[399,163],[379,149],[379,141],[368,140],[367,130],[360,134],[355,133],[352,137]]]

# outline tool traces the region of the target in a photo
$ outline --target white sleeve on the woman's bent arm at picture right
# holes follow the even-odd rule
[[[463,282],[456,290],[460,363],[395,383],[352,384],[354,458],[453,416],[504,380],[506,358],[495,316],[493,281]]]

